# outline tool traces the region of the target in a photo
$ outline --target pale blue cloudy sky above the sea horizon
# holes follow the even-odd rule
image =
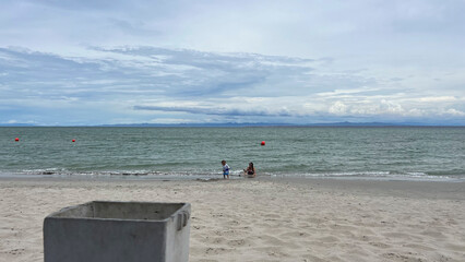
[[[465,126],[462,0],[0,9],[0,124]]]

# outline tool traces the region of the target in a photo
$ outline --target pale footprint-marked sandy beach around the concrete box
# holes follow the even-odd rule
[[[93,200],[189,202],[190,261],[465,261],[465,183],[0,179],[0,261],[43,261],[43,221]]]

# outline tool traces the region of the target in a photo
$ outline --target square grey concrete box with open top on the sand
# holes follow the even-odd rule
[[[45,262],[188,261],[189,203],[100,202],[44,221]]]

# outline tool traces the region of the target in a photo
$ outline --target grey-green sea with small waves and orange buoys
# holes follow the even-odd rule
[[[259,177],[465,181],[465,127],[0,128],[0,176],[213,179],[223,159],[231,178],[252,162]]]

